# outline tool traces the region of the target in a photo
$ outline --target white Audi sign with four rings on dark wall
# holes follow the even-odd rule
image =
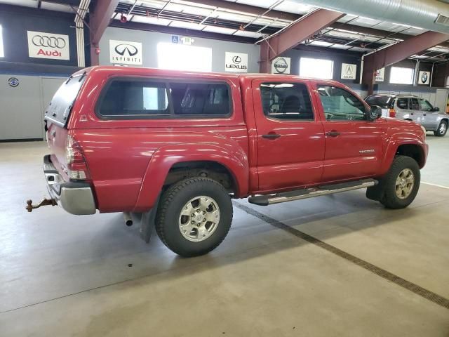
[[[69,36],[28,31],[28,55],[30,58],[70,60]]]

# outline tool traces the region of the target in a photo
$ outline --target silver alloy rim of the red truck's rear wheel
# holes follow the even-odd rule
[[[220,223],[220,207],[206,195],[194,197],[182,207],[179,217],[180,232],[185,239],[201,242],[208,239]]]

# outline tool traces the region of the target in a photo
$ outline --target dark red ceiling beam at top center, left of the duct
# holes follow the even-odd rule
[[[273,18],[273,19],[281,19],[281,20],[289,20],[289,21],[295,21],[298,18],[300,18],[300,15],[283,12],[283,11],[276,11],[276,9],[272,9],[268,11],[268,8],[262,8],[258,6],[253,5],[246,5],[246,4],[239,4],[236,2],[231,1],[225,1],[225,0],[185,0],[186,2],[191,2],[192,4],[201,4],[206,6],[212,6],[212,7],[220,7],[224,9],[229,9],[230,11],[236,11],[246,14],[253,14],[253,15],[262,15],[267,18]],[[267,13],[265,13],[267,12]]]

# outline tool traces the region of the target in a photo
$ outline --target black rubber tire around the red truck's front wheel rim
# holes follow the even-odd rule
[[[399,174],[405,170],[410,169],[413,172],[414,183],[412,190],[408,197],[401,199],[396,194],[396,179]],[[406,156],[397,156],[393,164],[380,183],[384,185],[384,194],[380,199],[380,203],[387,207],[387,209],[404,209],[412,203],[415,199],[418,190],[420,189],[421,173],[420,166],[418,166],[415,159]]]

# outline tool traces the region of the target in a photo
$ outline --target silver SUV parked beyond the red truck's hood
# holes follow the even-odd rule
[[[437,137],[445,136],[448,131],[449,117],[439,113],[428,100],[413,95],[370,95],[368,105],[382,107],[383,117],[392,117],[414,121],[424,126],[427,131],[434,131]]]

